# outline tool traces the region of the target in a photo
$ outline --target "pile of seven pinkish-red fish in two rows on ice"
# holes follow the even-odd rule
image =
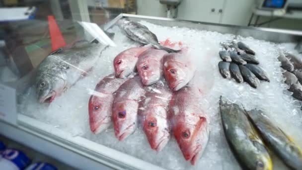
[[[209,130],[198,103],[201,89],[187,85],[195,69],[186,50],[130,48],[118,54],[113,65],[115,74],[103,78],[89,99],[91,131],[98,134],[113,122],[115,136],[122,141],[140,124],[156,151],[173,134],[184,158],[195,165]],[[133,76],[136,71],[138,75]]]

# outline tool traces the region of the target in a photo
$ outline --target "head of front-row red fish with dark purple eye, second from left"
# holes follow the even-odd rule
[[[123,100],[113,104],[112,118],[115,136],[122,141],[131,135],[137,127],[138,102]]]

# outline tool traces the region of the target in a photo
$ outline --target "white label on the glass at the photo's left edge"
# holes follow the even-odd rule
[[[0,84],[0,119],[16,124],[16,89]]]

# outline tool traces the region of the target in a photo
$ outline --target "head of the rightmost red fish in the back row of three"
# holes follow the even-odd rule
[[[163,67],[164,76],[173,91],[179,90],[190,81],[188,74],[191,71],[187,64],[168,59],[164,61]]]

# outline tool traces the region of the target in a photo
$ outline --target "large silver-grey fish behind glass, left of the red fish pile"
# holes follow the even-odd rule
[[[70,48],[49,54],[39,65],[35,87],[40,103],[50,103],[56,96],[86,75],[105,45],[78,41]]]

